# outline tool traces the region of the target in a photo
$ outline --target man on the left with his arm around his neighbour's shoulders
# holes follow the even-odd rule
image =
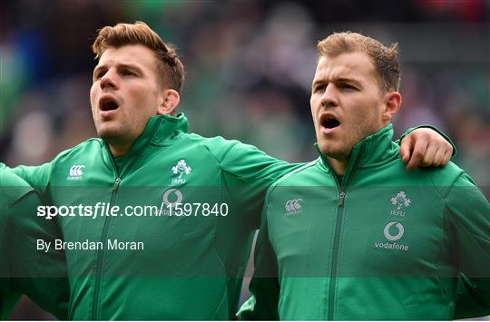
[[[263,195],[300,165],[188,133],[186,117],[175,113],[183,65],[148,25],[106,26],[93,52],[90,98],[100,139],[42,166],[15,168],[60,210],[41,215],[63,232],[70,318],[232,318]],[[451,155],[428,129],[403,143],[407,161],[415,156],[409,166],[439,165]],[[83,213],[62,214],[63,206]]]

